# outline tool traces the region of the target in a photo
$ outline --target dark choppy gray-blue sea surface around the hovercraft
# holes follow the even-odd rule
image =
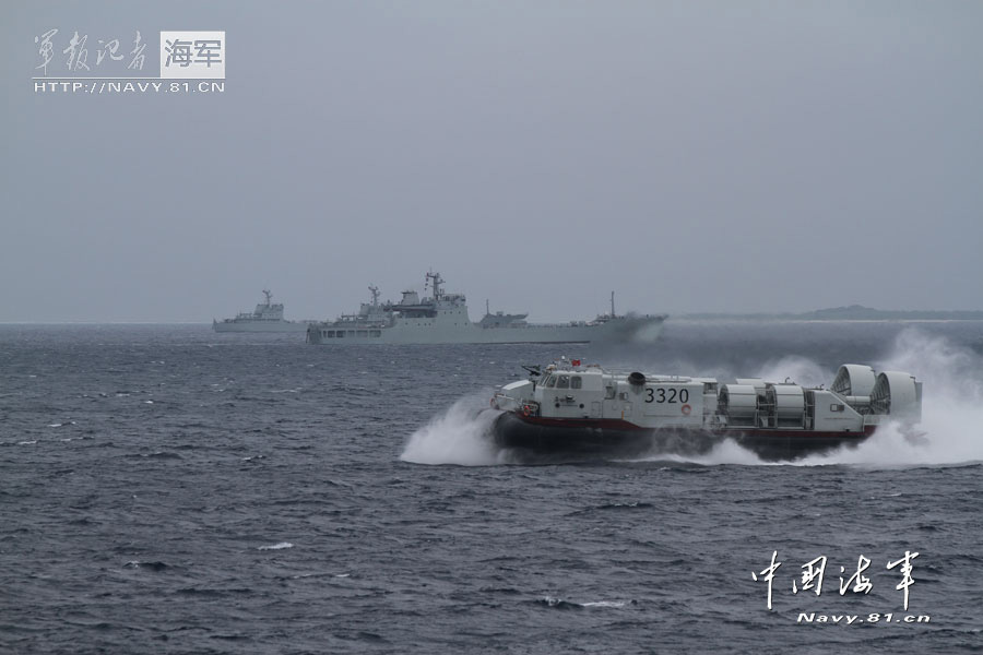
[[[482,409],[560,356],[807,384],[908,370],[924,438],[779,465],[733,443],[512,463]],[[342,349],[0,325],[0,652],[981,652],[981,322]]]

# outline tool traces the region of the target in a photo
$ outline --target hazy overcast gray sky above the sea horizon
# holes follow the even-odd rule
[[[531,320],[983,308],[983,2],[19,2],[0,321],[288,318],[442,273]],[[224,29],[223,94],[35,36]],[[90,57],[94,58],[95,48]],[[60,72],[59,72],[60,71]]]

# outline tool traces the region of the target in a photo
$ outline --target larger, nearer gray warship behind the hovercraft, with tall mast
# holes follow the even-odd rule
[[[427,273],[425,291],[403,291],[398,302],[379,302],[379,289],[369,286],[371,301],[358,313],[342,314],[334,321],[311,323],[307,343],[353,344],[560,344],[591,342],[652,341],[662,331],[664,315],[618,315],[612,293],[611,313],[592,321],[529,323],[525,313],[492,313],[472,322],[464,294],[448,294],[440,273]]]

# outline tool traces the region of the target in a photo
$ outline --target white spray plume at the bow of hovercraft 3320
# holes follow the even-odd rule
[[[485,409],[492,392],[465,396],[416,430],[400,460],[415,464],[489,466],[499,463],[499,449],[489,438],[499,413]]]

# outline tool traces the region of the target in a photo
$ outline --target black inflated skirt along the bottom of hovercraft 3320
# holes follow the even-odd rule
[[[624,420],[569,419],[501,414],[493,426],[495,442],[524,462],[549,463],[604,457],[675,454],[703,455],[732,439],[768,462],[800,460],[842,446],[856,446],[874,432],[820,432],[767,428],[640,428]]]

